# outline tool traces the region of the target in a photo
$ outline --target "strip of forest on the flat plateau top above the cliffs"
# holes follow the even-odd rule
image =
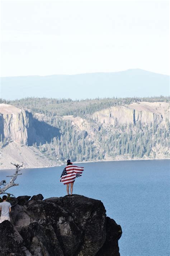
[[[74,115],[85,117],[96,111],[113,106],[131,104],[133,102],[169,102],[170,97],[133,97],[133,98],[96,98],[86,100],[48,99],[48,98],[24,98],[20,100],[2,100],[0,103],[11,104],[19,108],[30,109],[33,113],[43,113],[47,116]]]

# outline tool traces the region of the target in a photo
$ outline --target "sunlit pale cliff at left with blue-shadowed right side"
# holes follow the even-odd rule
[[[30,111],[12,105],[0,104],[1,140],[15,141],[22,145],[46,143],[53,137],[60,137],[59,129],[41,122]]]

